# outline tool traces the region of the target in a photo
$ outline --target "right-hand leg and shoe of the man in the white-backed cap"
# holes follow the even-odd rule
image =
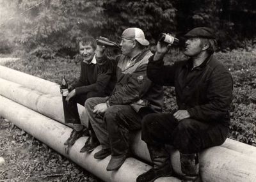
[[[130,105],[113,105],[104,115],[109,142],[111,160],[107,171],[118,169],[129,156],[129,131],[141,128],[142,117]]]

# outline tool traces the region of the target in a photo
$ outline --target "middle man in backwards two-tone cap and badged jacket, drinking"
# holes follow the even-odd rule
[[[148,45],[141,29],[125,29],[120,43],[122,55],[115,60],[117,82],[113,93],[105,98],[90,98],[85,103],[102,145],[94,158],[111,155],[107,171],[118,169],[129,156],[129,132],[140,130],[143,116],[161,112],[163,107],[163,87],[147,77],[148,58],[152,56],[146,49]],[[90,145],[93,144],[88,143],[89,149]]]

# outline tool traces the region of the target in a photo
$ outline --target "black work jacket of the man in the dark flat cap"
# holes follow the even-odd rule
[[[230,125],[233,81],[213,55],[195,68],[191,59],[164,66],[163,59],[153,61],[152,56],[147,74],[157,84],[175,86],[179,110],[188,110],[191,118]]]

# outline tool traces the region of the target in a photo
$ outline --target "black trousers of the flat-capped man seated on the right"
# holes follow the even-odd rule
[[[148,114],[143,118],[141,138],[152,146],[170,144],[183,154],[192,154],[225,142],[229,128],[195,119],[177,121],[173,114]]]

